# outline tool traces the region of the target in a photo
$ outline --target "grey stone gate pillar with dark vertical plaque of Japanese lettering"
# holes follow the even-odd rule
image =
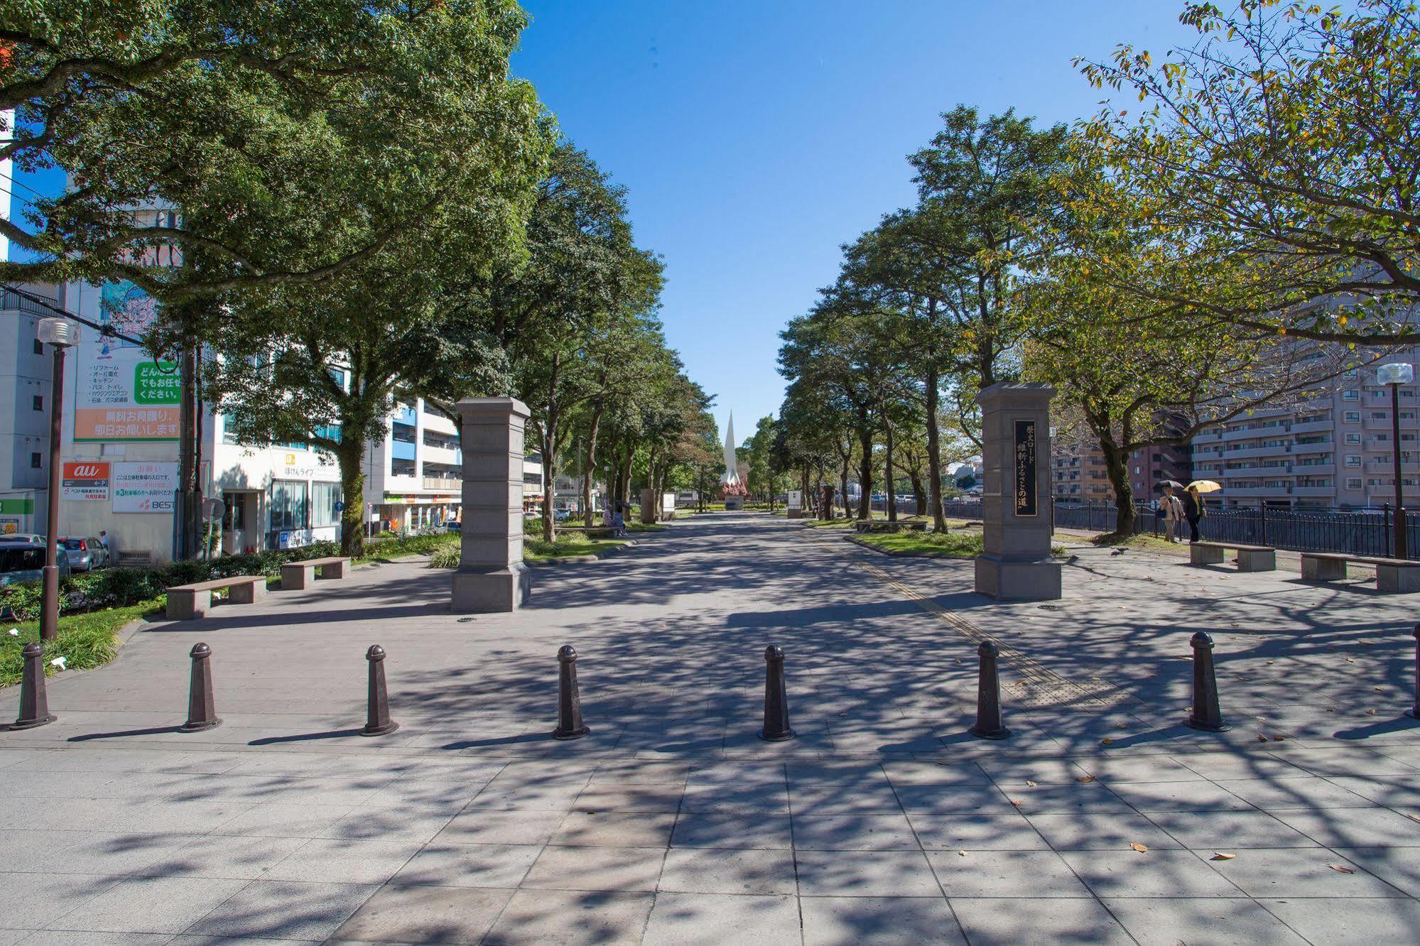
[[[1049,385],[991,385],[977,395],[985,443],[981,520],[985,551],[976,589],[1001,601],[1061,597],[1061,564],[1051,558]]]

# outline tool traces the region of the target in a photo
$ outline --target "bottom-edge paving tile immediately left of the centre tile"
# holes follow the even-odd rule
[[[655,893],[518,891],[484,946],[639,943]]]

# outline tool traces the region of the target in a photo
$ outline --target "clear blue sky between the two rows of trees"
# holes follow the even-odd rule
[[[834,280],[841,243],[912,203],[905,158],[943,111],[1074,121],[1100,94],[1072,57],[1190,38],[1181,0],[524,6],[514,71],[628,186],[638,241],[666,261],[670,344],[741,437],[782,399],[784,322]]]

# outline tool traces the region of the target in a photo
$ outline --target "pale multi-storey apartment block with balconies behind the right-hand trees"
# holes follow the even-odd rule
[[[1417,364],[1417,352],[1393,361]],[[1394,503],[1394,450],[1402,486],[1420,486],[1416,385],[1402,385],[1400,443],[1393,442],[1392,392],[1375,368],[1340,375],[1329,391],[1296,405],[1255,411],[1193,440],[1194,474],[1223,484],[1225,506],[1375,509]],[[1411,493],[1413,494],[1413,493]]]

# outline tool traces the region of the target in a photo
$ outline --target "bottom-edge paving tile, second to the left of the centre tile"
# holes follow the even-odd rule
[[[513,891],[383,886],[341,923],[335,939],[393,943],[479,943]]]

